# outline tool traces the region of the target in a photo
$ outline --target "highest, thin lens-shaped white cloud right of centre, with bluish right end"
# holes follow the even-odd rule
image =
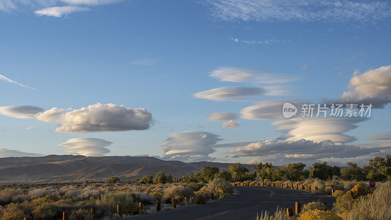
[[[267,73],[260,69],[221,67],[210,72],[210,76],[223,82],[255,82],[263,84],[282,84],[297,80],[296,78],[276,73]]]

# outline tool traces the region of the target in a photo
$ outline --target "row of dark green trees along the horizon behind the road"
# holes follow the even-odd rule
[[[302,181],[309,177],[322,180],[337,177],[342,180],[366,181],[370,178],[376,181],[391,180],[391,155],[386,157],[374,157],[364,167],[349,162],[347,167],[330,166],[327,162],[314,163],[306,168],[304,163],[290,163],[288,165],[274,166],[272,163],[253,163],[254,171],[250,171],[240,163],[229,165],[227,170],[213,166],[204,166],[200,172],[189,176],[182,176],[181,182],[196,183],[209,182],[215,178],[222,178],[226,181],[254,181],[265,179],[270,181],[291,180]],[[144,177],[143,177],[144,178]]]

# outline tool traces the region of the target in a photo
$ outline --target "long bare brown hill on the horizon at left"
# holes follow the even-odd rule
[[[231,163],[166,161],[150,156],[47,155],[40,157],[0,158],[0,184],[68,181],[100,181],[110,176],[133,180],[159,171],[184,176],[202,166],[228,169]],[[249,164],[244,164],[253,170]]]

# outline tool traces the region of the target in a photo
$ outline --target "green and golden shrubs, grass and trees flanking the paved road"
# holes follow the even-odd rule
[[[61,219],[64,211],[69,212],[70,220],[88,220],[92,219],[91,208],[95,208],[97,219],[118,219],[117,205],[122,206],[125,216],[148,214],[156,211],[157,200],[161,210],[168,210],[173,199],[176,206],[203,204],[212,198],[230,197],[235,193],[234,185],[261,183],[288,188],[303,185],[314,194],[336,197],[331,210],[320,202],[305,204],[300,219],[391,219],[390,155],[375,157],[363,168],[348,163],[340,169],[326,162],[314,163],[307,169],[304,163],[252,166],[252,171],[240,163],[227,170],[204,166],[200,172],[180,178],[159,172],[133,181],[120,181],[113,176],[101,182],[0,185],[0,220],[28,216],[34,220]],[[369,178],[377,181],[373,195]],[[287,218],[286,210],[273,215],[275,219]],[[266,218],[270,219],[269,213],[258,216]]]

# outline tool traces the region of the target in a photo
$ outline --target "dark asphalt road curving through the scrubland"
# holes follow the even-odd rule
[[[257,212],[274,213],[277,207],[292,208],[295,212],[295,202],[305,204],[311,201],[324,201],[331,208],[335,201],[333,197],[315,196],[311,193],[267,186],[239,186],[238,195],[230,198],[215,200],[202,205],[190,205],[176,209],[156,212],[148,215],[132,216],[126,219],[154,219],[154,220],[217,220],[217,219],[255,219]]]

